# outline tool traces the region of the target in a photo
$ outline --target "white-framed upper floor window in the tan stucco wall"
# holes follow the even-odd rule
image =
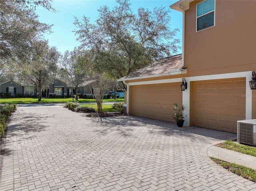
[[[197,31],[214,26],[215,0],[205,0],[196,6]]]

